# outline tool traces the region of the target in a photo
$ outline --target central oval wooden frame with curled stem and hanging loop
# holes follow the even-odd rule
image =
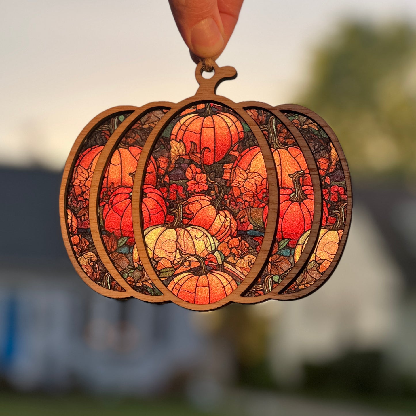
[[[144,144],[144,147],[141,152],[141,157],[139,158],[137,164],[135,181],[133,184],[133,193],[131,198],[133,230],[136,239],[136,246],[138,248],[139,253],[146,253],[146,256],[141,257],[144,269],[148,272],[149,277],[154,282],[156,287],[158,287],[158,289],[163,294],[166,294],[169,300],[186,309],[198,311],[214,310],[219,307],[228,305],[230,302],[234,302],[236,298],[238,299],[239,295],[243,293],[249,287],[249,285],[251,285],[253,281],[255,281],[255,279],[257,279],[257,277],[261,274],[267,259],[270,257],[270,251],[272,250],[275,240],[275,228],[277,225],[278,181],[275,163],[273,161],[273,156],[272,152],[270,151],[269,144],[265,139],[265,136],[262,134],[262,131],[260,130],[259,126],[250,117],[250,115],[243,110],[243,108],[240,105],[232,102],[230,99],[218,96],[215,94],[215,92],[213,92],[213,88],[216,89],[216,87],[218,87],[218,85],[223,79],[232,79],[233,77],[235,77],[235,69],[232,67],[218,68],[216,64],[214,65],[214,68],[214,77],[209,79],[209,82],[205,84],[205,81],[207,80],[204,79],[202,76],[200,78],[198,77],[198,72],[201,73],[201,64],[198,64],[196,74],[197,81],[200,84],[200,87],[196,95],[194,95],[193,97],[189,97],[179,102],[178,104],[173,105],[171,110],[169,110],[165,114],[165,116],[163,116],[161,121],[149,135],[146,143]],[[251,268],[250,272],[248,272],[248,275],[245,277],[243,282],[230,295],[224,297],[218,302],[211,303],[208,305],[196,305],[183,301],[179,299],[177,296],[173,295],[173,293],[170,292],[163,285],[163,282],[159,279],[149,259],[149,255],[145,245],[144,231],[141,220],[142,188],[144,177],[146,174],[146,166],[151,155],[151,151],[154,145],[156,144],[156,141],[158,140],[160,133],[163,131],[166,125],[180,112],[180,110],[192,104],[197,104],[199,102],[217,102],[219,104],[225,104],[229,108],[233,109],[233,111],[235,111],[248,124],[253,134],[255,135],[255,138],[257,139],[260,149],[262,151],[269,183],[269,212],[267,226],[263,238],[263,243],[260,247],[260,251],[253,264],[253,267]],[[270,208],[270,206],[275,208]],[[136,238],[136,236],[138,235],[140,235],[141,238]]]

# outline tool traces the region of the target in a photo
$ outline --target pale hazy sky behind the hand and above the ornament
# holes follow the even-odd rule
[[[82,128],[116,105],[195,94],[189,57],[167,0],[2,0],[0,164],[61,170]],[[295,4],[295,6],[294,6]],[[416,24],[414,0],[245,0],[217,60],[238,78],[235,102],[295,102],[314,51],[346,20]]]

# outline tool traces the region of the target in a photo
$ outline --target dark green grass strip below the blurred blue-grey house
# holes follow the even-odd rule
[[[2,416],[222,416],[201,413],[183,401],[111,399],[94,396],[0,392]]]

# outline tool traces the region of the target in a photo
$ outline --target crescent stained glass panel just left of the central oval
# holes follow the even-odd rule
[[[100,186],[99,223],[104,249],[126,282],[144,295],[161,295],[144,271],[133,233],[131,192],[141,150],[149,134],[168,109],[154,109],[141,117],[121,137],[104,169]],[[155,161],[160,169],[161,160]]]

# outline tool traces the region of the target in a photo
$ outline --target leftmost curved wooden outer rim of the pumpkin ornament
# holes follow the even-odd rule
[[[76,156],[79,150],[79,147],[82,146],[84,139],[94,131],[99,124],[101,124],[105,119],[116,116],[117,114],[123,114],[128,111],[134,112],[137,107],[135,106],[116,106],[108,110],[103,111],[102,113],[95,116],[85,127],[82,129],[81,133],[78,135],[74,144],[72,145],[71,151],[69,152],[67,161],[65,162],[64,172],[62,174],[61,187],[59,191],[59,218],[61,223],[61,233],[64,240],[64,245],[68,253],[69,260],[71,260],[74,269],[78,273],[79,277],[84,280],[85,283],[92,290],[95,290],[100,295],[106,297],[112,297],[117,299],[123,299],[126,297],[126,292],[119,292],[117,290],[106,289],[98,285],[96,282],[91,280],[87,274],[82,270],[82,267],[79,265],[77,258],[75,257],[72,245],[69,240],[69,230],[67,224],[67,190],[69,186],[69,173],[73,171],[74,165],[76,163]],[[94,244],[95,245],[95,244]]]

